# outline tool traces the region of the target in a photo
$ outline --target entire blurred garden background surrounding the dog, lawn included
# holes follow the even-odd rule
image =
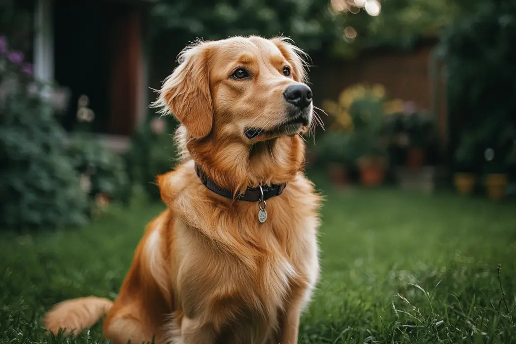
[[[116,297],[164,205],[153,89],[196,38],[311,56],[325,195],[302,343],[516,342],[515,0],[1,0],[0,343]]]

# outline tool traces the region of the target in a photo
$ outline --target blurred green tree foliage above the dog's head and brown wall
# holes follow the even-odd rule
[[[161,0],[152,14],[156,31],[173,32],[182,43],[285,35],[309,53],[352,57],[364,48],[410,48],[421,37],[436,35],[464,6],[463,0],[382,0],[380,15],[372,16],[354,1],[334,0],[333,5],[344,3],[345,10],[337,11],[330,0]],[[344,34],[349,26],[357,32],[352,39]]]

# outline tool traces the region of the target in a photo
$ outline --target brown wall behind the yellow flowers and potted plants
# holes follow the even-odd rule
[[[427,43],[411,52],[370,52],[351,61],[313,58],[310,69],[314,104],[322,107],[325,99],[336,100],[345,88],[357,83],[382,84],[390,99],[413,101],[420,110],[427,110],[437,121],[441,150],[447,146],[447,118],[444,69],[432,65],[434,43]],[[327,120],[326,116],[321,116]]]

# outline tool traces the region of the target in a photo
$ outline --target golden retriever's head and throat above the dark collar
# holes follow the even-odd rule
[[[205,170],[248,174],[233,187],[281,179],[269,162],[292,176],[313,111],[302,56],[285,38],[197,42],[181,52],[154,105],[181,122],[179,143]]]

